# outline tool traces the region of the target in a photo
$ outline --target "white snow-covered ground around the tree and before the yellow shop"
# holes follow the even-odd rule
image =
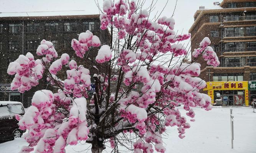
[[[256,113],[253,113],[251,107],[233,107],[234,149],[231,149],[230,108],[215,107],[208,112],[199,107],[194,108],[196,121],[191,122],[191,128],[186,130],[185,138],[178,138],[176,128],[167,128],[168,136],[164,139],[166,153],[256,153]],[[181,112],[185,113],[184,110]],[[0,152],[18,153],[23,145],[27,145],[25,140],[17,138],[1,143]],[[67,146],[66,152],[90,153],[88,147],[90,148],[84,144]],[[110,152],[108,147],[104,151]]]

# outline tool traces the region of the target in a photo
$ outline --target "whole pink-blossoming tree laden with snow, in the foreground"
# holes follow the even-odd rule
[[[138,6],[134,0],[104,1],[101,29],[110,31],[109,45],[101,44],[90,31],[72,40],[74,52],[83,60],[91,60],[84,54],[99,47],[96,62],[104,71],[93,75],[92,97],[88,65],[77,65],[68,54],[59,56],[49,41],[38,46],[39,59],[28,53],[10,63],[8,74],[15,75],[12,90],[28,91],[43,75],[58,88],[36,91],[25,115],[16,116],[20,129],[28,130],[24,138],[29,146],[23,146],[21,153],[64,153],[66,145],[80,141],[91,143],[92,153],[101,153],[106,144],[115,152],[123,145],[135,153],[164,153],[165,127],[176,126],[180,138],[190,128],[178,103],[184,104],[191,121],[195,120],[192,107],[211,109],[211,98],[199,93],[206,85],[198,78],[200,64],[182,62],[188,51],[181,42],[190,34],[176,34],[171,17],[149,20],[151,10]],[[192,55],[202,55],[208,64],[218,66],[209,44],[204,38]],[[64,65],[70,70],[63,81],[58,72]]]

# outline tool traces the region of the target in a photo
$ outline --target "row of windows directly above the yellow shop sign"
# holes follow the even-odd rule
[[[243,73],[214,73],[213,81],[243,81]]]

